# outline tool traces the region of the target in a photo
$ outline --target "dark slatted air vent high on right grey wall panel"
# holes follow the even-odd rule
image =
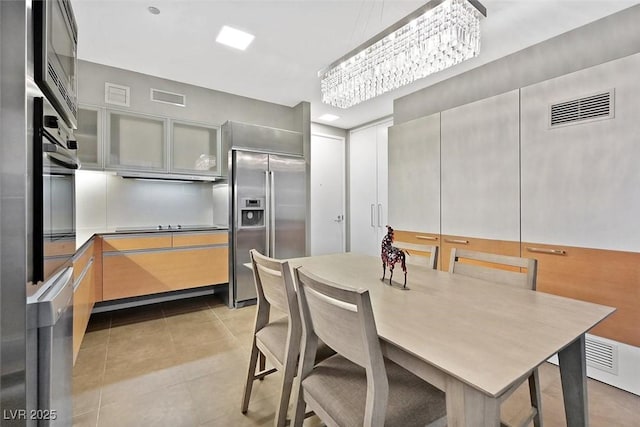
[[[613,118],[614,90],[552,104],[552,128]]]

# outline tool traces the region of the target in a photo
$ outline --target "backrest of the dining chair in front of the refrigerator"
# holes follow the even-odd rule
[[[269,311],[274,307],[288,314],[291,323],[300,325],[298,299],[289,263],[266,257],[255,249],[249,253],[259,310]]]

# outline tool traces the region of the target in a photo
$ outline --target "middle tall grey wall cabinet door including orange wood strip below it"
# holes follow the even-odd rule
[[[451,247],[520,254],[520,116],[514,90],[442,112],[442,268]]]

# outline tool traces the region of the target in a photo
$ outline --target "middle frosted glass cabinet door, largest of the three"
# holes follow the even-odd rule
[[[166,171],[165,120],[110,111],[107,165]]]

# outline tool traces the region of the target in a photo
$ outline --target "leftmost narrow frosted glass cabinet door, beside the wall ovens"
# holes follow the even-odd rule
[[[102,110],[95,107],[78,108],[78,158],[83,169],[102,167]]]

